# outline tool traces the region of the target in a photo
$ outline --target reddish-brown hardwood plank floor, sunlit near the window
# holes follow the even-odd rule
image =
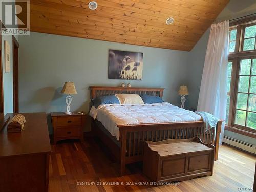
[[[119,177],[118,165],[104,146],[93,138],[84,143],[60,142],[52,145],[49,191],[239,191],[253,186],[256,157],[222,145],[214,175],[175,183],[150,185],[141,163],[129,165],[129,175]],[[140,182],[140,183],[136,183]],[[123,184],[122,184],[123,183]],[[147,185],[144,185],[147,184]]]

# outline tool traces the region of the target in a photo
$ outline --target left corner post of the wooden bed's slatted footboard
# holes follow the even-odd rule
[[[125,128],[119,129],[120,132],[120,142],[121,142],[121,154],[120,154],[120,176],[125,173],[125,157],[126,157],[126,140],[127,140],[127,130]]]

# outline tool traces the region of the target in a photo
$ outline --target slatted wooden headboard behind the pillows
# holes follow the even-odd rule
[[[139,88],[139,87],[111,87],[111,86],[90,86],[91,99],[114,94],[147,94],[163,97],[164,88]]]

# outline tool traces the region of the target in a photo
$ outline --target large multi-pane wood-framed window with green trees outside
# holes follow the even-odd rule
[[[256,16],[245,20],[229,29],[225,123],[256,133]]]

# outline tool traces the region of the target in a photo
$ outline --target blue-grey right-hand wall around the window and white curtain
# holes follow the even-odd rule
[[[242,16],[256,13],[256,2],[254,0],[240,1],[231,0],[225,9],[217,17],[216,22],[223,20],[231,20]],[[205,53],[207,49],[207,42],[209,38],[209,29],[204,33],[201,39],[197,42],[196,46],[189,52],[189,65],[188,71],[193,73],[187,73],[188,75],[188,87],[190,91],[189,106],[191,108],[197,108],[201,78],[203,73]],[[256,140],[250,137],[246,137],[237,133],[226,131],[224,135],[239,139],[241,141],[249,142],[256,145]]]

